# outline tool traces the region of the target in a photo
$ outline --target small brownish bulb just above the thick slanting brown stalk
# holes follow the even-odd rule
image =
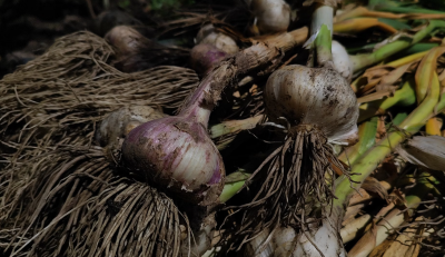
[[[221,32],[217,32],[215,30],[215,27],[212,24],[207,24],[202,27],[197,37],[196,37],[196,43],[207,43],[216,47],[217,49],[225,51],[229,55],[236,53],[239,51],[239,48],[236,43],[236,41]]]

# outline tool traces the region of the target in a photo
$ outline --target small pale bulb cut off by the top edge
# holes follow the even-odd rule
[[[284,32],[289,27],[290,7],[284,0],[251,0],[248,3],[261,33]]]

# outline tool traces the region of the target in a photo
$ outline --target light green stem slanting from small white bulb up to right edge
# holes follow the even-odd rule
[[[350,56],[350,61],[353,62],[354,71],[362,70],[368,66],[372,66],[373,63],[382,61],[385,58],[403,49],[406,49],[409,46],[413,46],[414,43],[419,42],[426,36],[431,34],[431,32],[433,32],[435,29],[444,27],[445,27],[445,21],[431,20],[429,24],[426,28],[419,30],[417,33],[415,33],[411,38],[411,40],[399,39],[394,42],[387,43],[386,46],[383,46],[382,48],[372,53]]]

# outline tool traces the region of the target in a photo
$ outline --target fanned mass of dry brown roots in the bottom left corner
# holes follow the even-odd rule
[[[102,148],[67,147],[24,166],[34,177],[0,209],[4,254],[179,255],[187,218],[162,192],[117,176]]]

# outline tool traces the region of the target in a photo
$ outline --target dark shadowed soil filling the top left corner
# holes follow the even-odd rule
[[[146,37],[177,10],[215,1],[194,0],[0,0],[0,78],[41,55],[58,37],[89,30],[103,36],[116,24],[142,26]]]

